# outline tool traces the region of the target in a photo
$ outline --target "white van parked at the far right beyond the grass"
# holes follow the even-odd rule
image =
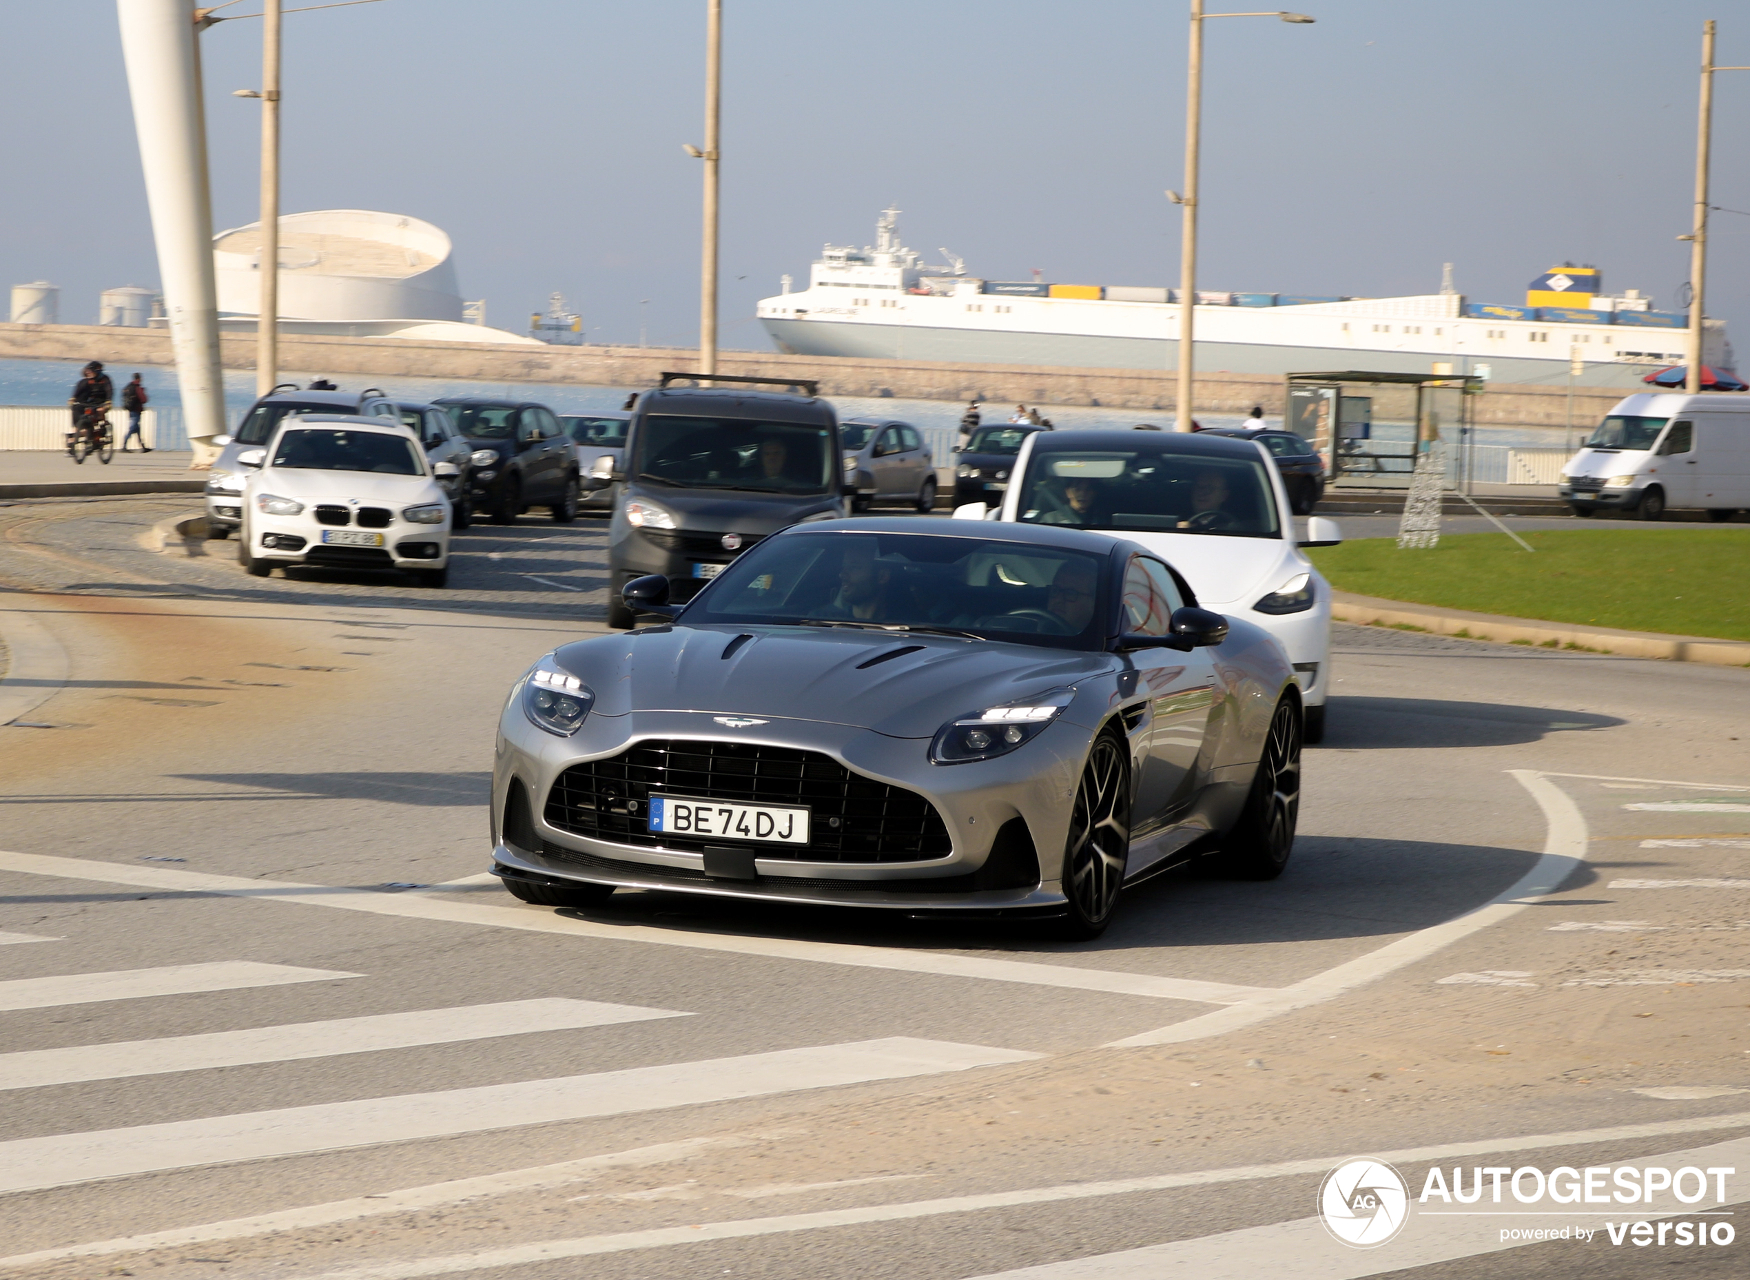
[[[1561,469],[1575,515],[1750,508],[1750,394],[1642,394],[1620,401]]]

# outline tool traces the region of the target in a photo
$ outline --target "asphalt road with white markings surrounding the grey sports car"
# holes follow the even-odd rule
[[[1312,1215],[1382,1156],[1729,1166],[1661,1212],[1734,1222],[1750,672],[1340,627],[1283,879],[1153,881],[1092,944],[553,912],[481,876],[492,725],[598,627],[600,525],[471,531],[425,592],[142,550],[186,510],[0,508],[0,697],[44,697],[0,728],[4,1273],[1746,1269],[1610,1243],[1619,1203]]]

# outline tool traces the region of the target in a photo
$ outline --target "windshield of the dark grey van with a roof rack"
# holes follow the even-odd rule
[[[639,427],[639,480],[682,489],[824,494],[838,476],[833,429],[752,418],[682,418],[653,413]]]

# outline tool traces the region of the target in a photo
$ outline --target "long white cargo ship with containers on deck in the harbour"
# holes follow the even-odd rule
[[[1146,285],[985,280],[950,256],[931,266],[882,212],[875,245],[826,245],[808,287],[765,298],[758,319],[779,350],[900,361],[1171,369],[1178,291]],[[947,256],[947,250],[942,250]],[[1598,268],[1536,277],[1524,305],[1477,303],[1451,285],[1405,298],[1199,292],[1204,373],[1456,373],[1514,383],[1638,387],[1682,364],[1687,315],[1628,289],[1606,294]],[[1708,320],[1703,364],[1732,369],[1722,320]]]

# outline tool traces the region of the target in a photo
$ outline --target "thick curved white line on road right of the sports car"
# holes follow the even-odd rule
[[[1508,916],[1516,916],[1531,905],[1530,900],[1554,893],[1568,876],[1586,863],[1589,839],[1586,818],[1580,816],[1578,805],[1575,805],[1568,793],[1544,774],[1531,769],[1508,769],[1507,772],[1536,800],[1544,811],[1547,832],[1544,837],[1544,856],[1531,865],[1531,870],[1493,900],[1463,916],[1418,930],[1396,942],[1388,942],[1377,951],[1356,956],[1346,965],[1337,965],[1335,968],[1326,968],[1323,974],[1300,979],[1279,991],[1267,991],[1255,1000],[1239,1002],[1213,1014],[1188,1017],[1183,1023],[1162,1026],[1158,1031],[1144,1031],[1124,1040],[1113,1040],[1108,1047],[1127,1049],[1130,1045],[1204,1040],[1262,1023],[1278,1014],[1286,1014],[1292,1009],[1306,1009],[1307,1005],[1334,1000],[1405,965],[1426,960],[1479,930],[1500,925]]]

